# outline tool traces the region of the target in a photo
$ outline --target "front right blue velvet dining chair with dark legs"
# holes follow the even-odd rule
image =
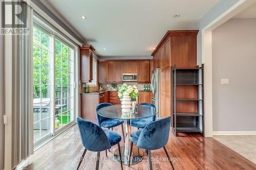
[[[168,155],[165,148],[165,144],[169,139],[170,131],[170,116],[157,120],[148,124],[144,129],[139,129],[131,134],[131,149],[129,156],[129,166],[130,159],[132,156],[133,143],[136,143],[138,148],[142,148],[148,151],[148,162],[150,163],[150,169],[152,170],[151,162],[151,150],[157,150],[160,148],[164,149],[166,156],[174,169],[173,163]]]

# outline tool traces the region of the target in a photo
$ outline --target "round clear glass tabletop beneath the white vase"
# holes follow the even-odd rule
[[[122,113],[121,105],[106,106],[98,110],[99,115],[116,119],[139,119],[158,114],[156,108],[145,105],[136,105],[129,113]]]

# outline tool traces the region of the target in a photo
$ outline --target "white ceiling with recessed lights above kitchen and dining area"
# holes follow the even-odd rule
[[[219,0],[41,2],[69,22],[99,56],[150,56],[168,30],[190,29]],[[177,13],[180,17],[174,18]]]

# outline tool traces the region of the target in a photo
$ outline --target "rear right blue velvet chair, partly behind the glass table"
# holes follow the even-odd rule
[[[156,106],[151,103],[141,103],[139,105],[151,106],[151,107],[156,108]],[[147,118],[134,119],[134,120],[132,120],[131,126],[136,127],[138,129],[145,128],[145,126],[147,126],[148,124],[150,124],[152,122],[155,122],[155,120],[156,120],[156,115],[154,115],[152,117],[147,117]]]

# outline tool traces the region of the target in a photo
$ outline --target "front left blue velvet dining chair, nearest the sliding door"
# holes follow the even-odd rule
[[[80,117],[78,117],[76,120],[82,145],[85,148],[80,158],[77,169],[79,169],[79,166],[87,150],[97,152],[96,170],[99,169],[99,159],[101,151],[106,151],[110,149],[113,145],[117,144],[119,156],[120,158],[122,157],[119,145],[119,142],[121,141],[121,136],[118,133],[109,129],[103,130],[98,125],[90,121],[84,120]],[[120,161],[120,163],[121,169],[123,169],[122,161]]]

